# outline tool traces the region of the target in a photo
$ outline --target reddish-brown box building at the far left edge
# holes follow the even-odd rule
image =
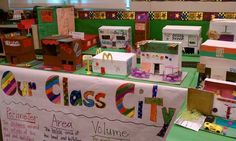
[[[33,39],[31,37],[4,37],[3,46],[9,63],[20,64],[35,59]]]

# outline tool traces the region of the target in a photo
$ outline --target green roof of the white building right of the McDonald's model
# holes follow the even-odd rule
[[[180,42],[149,41],[140,46],[142,52],[178,54]]]

